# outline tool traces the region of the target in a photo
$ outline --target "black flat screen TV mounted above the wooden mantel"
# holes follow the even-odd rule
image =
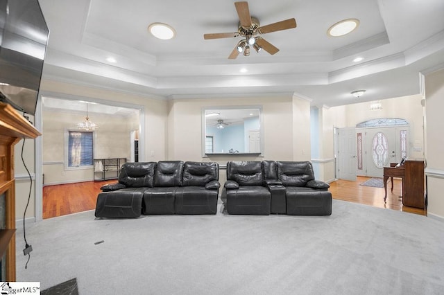
[[[0,0],[0,101],[35,114],[48,37],[38,0]]]

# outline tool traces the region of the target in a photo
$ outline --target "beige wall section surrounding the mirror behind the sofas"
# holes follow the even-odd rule
[[[291,97],[189,99],[169,102],[168,157],[183,161],[216,161],[225,165],[232,160],[293,159],[293,114]],[[262,106],[264,125],[263,157],[211,156],[202,152],[202,109],[223,106]],[[296,126],[303,129],[305,126]],[[309,152],[309,150],[308,150]]]

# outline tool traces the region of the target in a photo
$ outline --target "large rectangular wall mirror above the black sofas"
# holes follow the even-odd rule
[[[202,111],[203,154],[261,154],[262,107],[208,107]]]

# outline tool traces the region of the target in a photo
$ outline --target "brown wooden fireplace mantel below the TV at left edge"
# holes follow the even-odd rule
[[[5,194],[6,222],[0,229],[0,259],[6,253],[6,281],[15,281],[14,145],[40,136],[35,127],[10,105],[0,102],[0,195]]]

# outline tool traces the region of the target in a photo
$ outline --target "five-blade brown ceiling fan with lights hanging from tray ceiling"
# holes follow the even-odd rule
[[[273,55],[277,53],[279,49],[260,37],[260,35],[278,30],[296,28],[296,19],[286,19],[266,26],[260,26],[259,20],[251,17],[247,1],[234,2],[234,6],[236,6],[237,15],[239,15],[239,28],[236,33],[212,33],[203,35],[204,39],[244,37],[244,39],[241,39],[236,47],[234,47],[232,53],[228,56],[229,59],[234,60],[239,53],[244,53],[245,56],[250,55],[250,47],[255,48],[257,52],[264,48],[266,52]]]

